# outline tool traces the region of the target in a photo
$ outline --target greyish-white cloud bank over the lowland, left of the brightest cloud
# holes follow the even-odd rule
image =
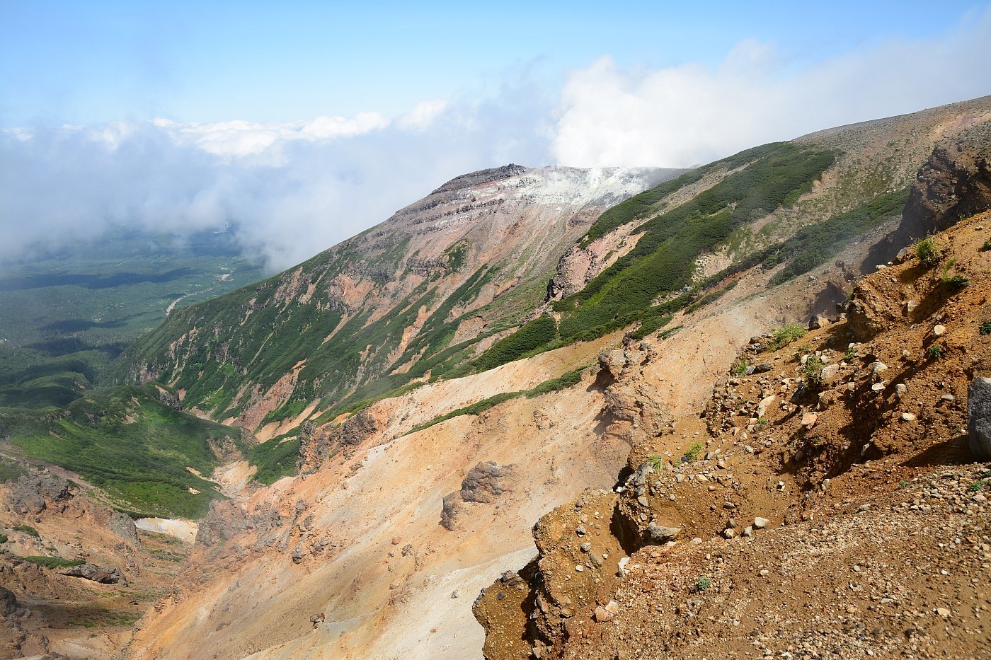
[[[548,108],[521,96],[425,101],[395,120],[362,113],[0,131],[0,263],[112,223],[179,235],[230,224],[246,254],[272,271],[288,268],[449,178],[504,165],[505,144],[517,145],[513,158],[543,160],[547,140],[532,127]]]

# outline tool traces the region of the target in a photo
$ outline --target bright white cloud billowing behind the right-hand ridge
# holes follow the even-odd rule
[[[889,42],[791,72],[742,42],[718,67],[572,71],[551,145],[561,165],[701,165],[820,129],[991,92],[991,11],[939,39]]]

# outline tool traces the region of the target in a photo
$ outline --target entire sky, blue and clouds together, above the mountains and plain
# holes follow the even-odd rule
[[[0,264],[126,223],[288,268],[461,173],[701,165],[991,93],[988,2],[0,0]]]

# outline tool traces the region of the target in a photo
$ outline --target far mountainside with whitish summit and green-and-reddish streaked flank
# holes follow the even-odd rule
[[[259,428],[437,375],[532,311],[564,246],[608,205],[677,173],[458,177],[295,269],[179,310],[119,378],[159,379],[189,407]]]

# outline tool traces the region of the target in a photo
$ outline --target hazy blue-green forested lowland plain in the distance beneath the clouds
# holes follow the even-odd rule
[[[257,279],[230,233],[181,241],[114,228],[33,262],[0,267],[0,407],[60,407],[98,385],[165,308]]]

